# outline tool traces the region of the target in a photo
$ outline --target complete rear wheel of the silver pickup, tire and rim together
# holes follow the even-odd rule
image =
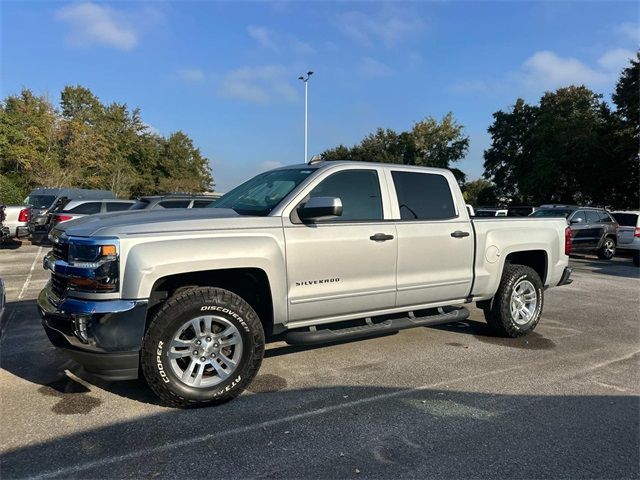
[[[544,296],[540,276],[531,267],[506,264],[500,286],[484,310],[489,326],[507,337],[521,337],[540,321]]]

